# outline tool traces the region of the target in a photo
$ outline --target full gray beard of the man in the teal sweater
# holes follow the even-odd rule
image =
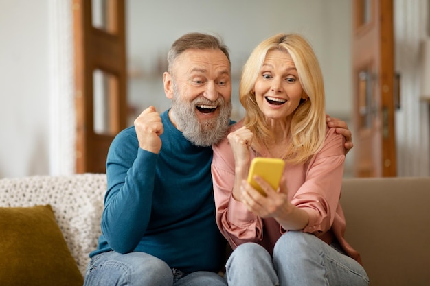
[[[195,109],[197,104],[218,104],[218,117],[205,119],[200,122],[196,116]],[[211,102],[205,99],[205,97],[198,97],[192,102],[185,102],[180,99],[177,92],[174,92],[172,111],[174,120],[177,122],[177,126],[182,131],[183,136],[196,146],[211,146],[227,136],[231,115],[231,102],[225,104],[223,97],[219,97],[215,102]]]

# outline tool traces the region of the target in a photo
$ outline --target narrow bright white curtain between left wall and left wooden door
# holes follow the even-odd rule
[[[49,0],[49,174],[75,173],[76,119],[71,0]]]

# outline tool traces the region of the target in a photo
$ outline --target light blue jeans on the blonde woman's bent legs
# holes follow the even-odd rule
[[[354,259],[308,233],[290,231],[276,242],[273,257],[257,243],[236,248],[226,265],[231,286],[367,286]]]

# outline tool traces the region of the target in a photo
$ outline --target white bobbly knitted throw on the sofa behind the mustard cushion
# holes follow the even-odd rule
[[[50,204],[82,275],[97,247],[106,174],[0,179],[0,206]],[[47,248],[49,251],[49,248]]]

